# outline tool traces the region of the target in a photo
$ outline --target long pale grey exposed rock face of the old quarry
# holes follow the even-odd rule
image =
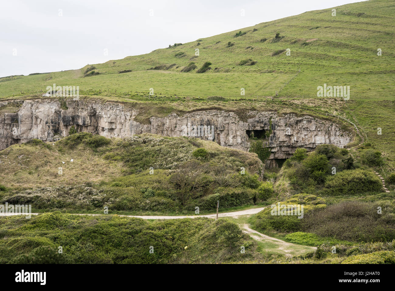
[[[11,102],[11,101],[10,101]],[[13,101],[15,102],[15,101]],[[248,151],[249,136],[263,137],[269,147],[269,159],[286,159],[297,147],[312,151],[319,144],[344,147],[352,138],[339,125],[309,116],[278,116],[273,112],[250,112],[247,122],[232,112],[207,110],[183,116],[152,117],[150,124],[134,121],[138,111],[117,103],[92,101],[67,102],[62,109],[58,100],[25,100],[17,113],[0,115],[0,149],[33,138],[55,141],[68,136],[71,126],[108,138],[124,138],[152,133],[162,136],[197,136],[221,146]],[[0,102],[0,108],[7,101]],[[195,128],[199,126],[199,128]],[[206,126],[205,128],[203,128]],[[213,131],[211,131],[213,129]]]

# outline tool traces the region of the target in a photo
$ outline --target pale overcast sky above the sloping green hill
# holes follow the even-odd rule
[[[352,2],[2,0],[0,77],[78,69]]]

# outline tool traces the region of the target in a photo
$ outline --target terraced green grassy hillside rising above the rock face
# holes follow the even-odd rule
[[[162,95],[239,98],[243,87],[246,98],[273,96],[275,91],[279,96],[314,97],[316,87],[327,83],[350,85],[352,100],[393,100],[393,1],[370,0],[335,9],[336,16],[332,8],[309,11],[79,70],[3,78],[1,97],[34,94],[53,83],[79,85],[82,94],[102,96],[115,90],[149,92],[152,87]],[[242,35],[237,36],[239,31]],[[288,48],[289,56],[284,51]],[[190,62],[197,68],[181,72]],[[212,63],[211,70],[196,74],[205,62]],[[84,77],[91,66],[95,69],[90,72],[100,74]],[[132,72],[119,74],[125,70]]]

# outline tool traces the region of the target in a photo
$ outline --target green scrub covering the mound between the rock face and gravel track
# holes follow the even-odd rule
[[[123,212],[194,213],[196,206],[201,211],[214,209],[218,197],[223,208],[231,208],[263,202],[271,196],[273,187],[258,176],[261,163],[255,155],[208,149],[202,147],[204,144],[214,143],[150,135],[111,142],[103,136],[78,132],[55,146],[48,145],[48,150],[57,148],[65,155],[72,149],[91,151],[103,161],[119,164],[123,175],[96,185],[81,179],[80,185],[13,189],[0,198],[13,204],[32,204],[38,210],[101,211],[107,206]],[[47,146],[38,141],[34,147],[40,145]],[[63,167],[66,174],[68,167]],[[240,172],[241,167],[245,172]]]

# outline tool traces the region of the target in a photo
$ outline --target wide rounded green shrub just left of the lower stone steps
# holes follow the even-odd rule
[[[326,178],[325,193],[328,195],[360,195],[371,191],[381,191],[380,178],[373,172],[362,169],[344,170]]]

